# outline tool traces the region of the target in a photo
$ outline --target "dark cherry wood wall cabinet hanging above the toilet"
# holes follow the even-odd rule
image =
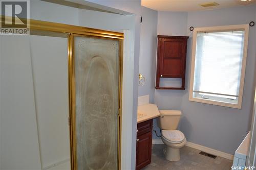
[[[158,35],[156,89],[185,89],[187,39]],[[181,87],[160,87],[160,78],[180,78]]]

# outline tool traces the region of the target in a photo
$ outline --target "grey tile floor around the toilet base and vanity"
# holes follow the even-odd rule
[[[142,170],[230,170],[232,161],[217,156],[216,159],[199,154],[199,150],[183,147],[180,160],[170,162],[164,158],[163,144],[154,144],[151,164]]]

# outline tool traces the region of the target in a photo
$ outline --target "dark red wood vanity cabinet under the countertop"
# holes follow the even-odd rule
[[[151,163],[153,119],[137,124],[136,170]]]

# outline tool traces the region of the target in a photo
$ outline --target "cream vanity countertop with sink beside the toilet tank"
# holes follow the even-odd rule
[[[157,105],[148,103],[138,106],[137,123],[141,123],[158,116],[160,116],[160,113]]]

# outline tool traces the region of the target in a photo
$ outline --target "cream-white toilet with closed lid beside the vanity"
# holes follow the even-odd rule
[[[186,144],[184,134],[176,130],[180,122],[180,110],[159,110],[157,125],[162,130],[162,141],[165,145],[164,155],[169,161],[180,160],[180,148]]]

